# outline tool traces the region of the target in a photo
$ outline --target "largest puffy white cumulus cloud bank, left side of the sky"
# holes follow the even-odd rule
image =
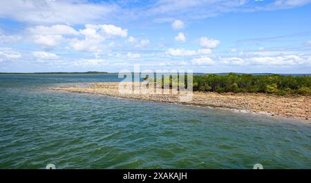
[[[27,29],[30,40],[46,50],[52,50],[60,44],[67,48],[83,52],[102,52],[106,39],[127,37],[127,30],[111,24],[86,24],[84,29],[75,30],[66,25],[35,26]]]

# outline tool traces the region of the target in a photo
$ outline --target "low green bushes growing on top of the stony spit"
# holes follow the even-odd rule
[[[173,83],[171,78],[170,76],[170,88]],[[240,75],[229,73],[227,75],[194,75],[193,81],[194,91],[201,92],[311,95],[311,76]],[[162,78],[162,88],[163,84],[164,79]]]

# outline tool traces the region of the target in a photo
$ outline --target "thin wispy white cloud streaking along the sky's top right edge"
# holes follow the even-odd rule
[[[265,3],[251,0],[158,0],[149,9],[158,19],[180,17],[182,19],[206,19],[229,12],[254,12],[295,8],[310,3],[311,0],[275,0]]]

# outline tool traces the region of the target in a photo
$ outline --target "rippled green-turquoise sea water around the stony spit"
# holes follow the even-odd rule
[[[311,168],[299,119],[47,89],[96,81],[0,75],[0,168]]]

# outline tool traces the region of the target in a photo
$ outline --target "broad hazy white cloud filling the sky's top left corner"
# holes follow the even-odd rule
[[[30,23],[84,24],[111,17],[118,7],[113,3],[86,1],[0,1],[0,17]]]

